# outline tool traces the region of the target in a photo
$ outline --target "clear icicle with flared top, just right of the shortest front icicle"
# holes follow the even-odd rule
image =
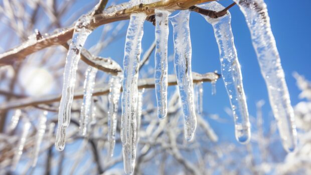
[[[180,11],[170,17],[173,25],[175,58],[174,65],[179,86],[179,93],[185,115],[185,139],[191,140],[197,127],[194,105],[194,92],[191,72],[191,40],[189,29],[190,11]]]

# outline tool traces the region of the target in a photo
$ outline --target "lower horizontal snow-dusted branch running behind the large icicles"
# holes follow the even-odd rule
[[[198,74],[193,72],[193,82],[211,82],[217,81],[220,78],[220,75],[217,73],[206,73],[206,74]],[[177,85],[176,75],[168,76],[168,84],[169,86]],[[146,78],[138,80],[138,89],[142,88],[154,88],[154,78]],[[122,91],[122,89],[121,89]],[[109,86],[104,86],[103,88],[95,88],[93,92],[93,96],[100,96],[109,93]],[[79,90],[75,92],[74,99],[83,98],[83,90]],[[39,104],[49,104],[53,102],[58,102],[61,99],[61,95],[51,95],[44,97],[27,97],[22,99],[16,99],[9,102],[5,102],[0,105],[0,111],[8,110],[13,108],[22,108],[27,106],[37,106]]]

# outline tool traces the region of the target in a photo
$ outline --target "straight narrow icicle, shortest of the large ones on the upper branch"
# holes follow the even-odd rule
[[[156,54],[154,60],[154,84],[158,105],[158,117],[166,117],[168,113],[168,38],[169,15],[165,10],[155,10],[156,13]]]

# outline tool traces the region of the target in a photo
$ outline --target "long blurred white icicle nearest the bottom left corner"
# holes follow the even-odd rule
[[[31,127],[31,123],[28,119],[24,119],[23,120],[24,126],[23,126],[23,132],[22,132],[22,136],[21,136],[21,140],[19,142],[19,145],[17,146],[17,150],[14,153],[14,157],[13,157],[13,161],[12,161],[12,170],[16,169],[17,164],[19,163],[22,153],[23,153],[23,149],[26,143],[26,138],[27,135],[29,133],[29,129]]]

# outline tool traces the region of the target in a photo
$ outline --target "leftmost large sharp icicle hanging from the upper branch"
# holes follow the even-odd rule
[[[55,140],[55,147],[60,151],[64,149],[66,144],[66,128],[70,123],[70,112],[76,82],[76,70],[80,60],[80,52],[88,35],[91,33],[91,30],[87,28],[89,22],[90,19],[84,16],[77,21],[66,57],[64,83],[59,106],[58,128]]]

